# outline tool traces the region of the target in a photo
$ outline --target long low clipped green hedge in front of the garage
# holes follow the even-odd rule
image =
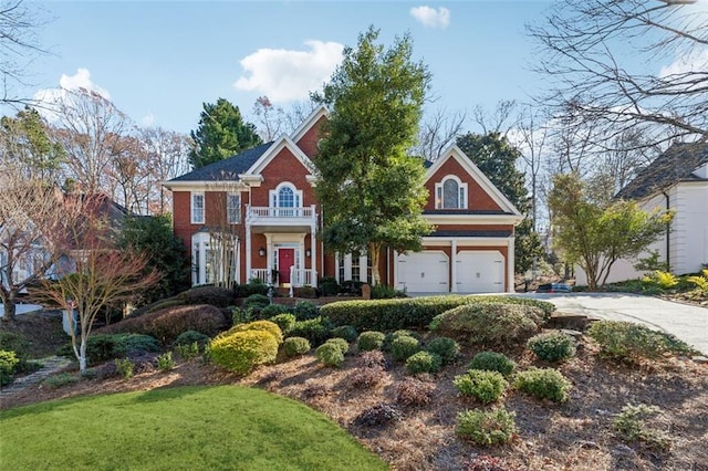
[[[424,328],[439,314],[465,304],[506,303],[539,307],[548,320],[555,311],[552,303],[519,296],[446,295],[404,300],[339,301],[320,307],[320,314],[335,325],[357,331]]]

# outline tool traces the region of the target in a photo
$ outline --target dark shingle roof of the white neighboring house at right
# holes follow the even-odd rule
[[[708,163],[708,144],[674,144],[642,170],[616,198],[642,199],[679,181],[700,180],[694,171]]]

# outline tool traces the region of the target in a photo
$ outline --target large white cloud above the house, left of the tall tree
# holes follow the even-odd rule
[[[308,97],[330,78],[342,62],[344,46],[336,42],[305,41],[309,51],[259,49],[240,61],[244,75],[233,84],[237,90],[259,92],[272,102]]]

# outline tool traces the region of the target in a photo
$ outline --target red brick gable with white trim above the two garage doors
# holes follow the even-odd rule
[[[450,146],[427,169],[425,186],[429,197],[425,206],[426,211],[442,211],[436,210],[436,184],[440,184],[447,176],[455,176],[462,184],[467,184],[467,211],[520,216],[511,201],[456,145]]]

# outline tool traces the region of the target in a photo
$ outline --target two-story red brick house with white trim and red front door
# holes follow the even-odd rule
[[[322,211],[312,159],[323,119],[320,107],[289,136],[164,184],[173,192],[175,234],[192,260],[192,284],[371,282],[366,255],[327,253],[316,238]],[[421,252],[386,250],[382,282],[408,292],[512,292],[514,226],[522,216],[457,146],[426,171],[424,217],[436,230]]]

